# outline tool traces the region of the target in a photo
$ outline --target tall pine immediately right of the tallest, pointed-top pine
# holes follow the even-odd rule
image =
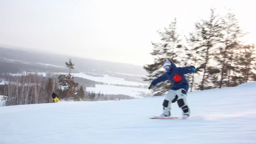
[[[215,60],[220,65],[220,81],[218,82],[219,88],[223,86],[230,86],[231,73],[234,69],[234,51],[239,47],[239,37],[243,36],[242,30],[238,25],[238,20],[235,14],[227,13],[222,19],[222,41],[219,45],[219,52],[215,55]]]

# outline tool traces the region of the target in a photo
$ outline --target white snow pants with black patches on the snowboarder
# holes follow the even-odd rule
[[[190,109],[187,106],[187,92],[185,89],[181,88],[176,91],[170,90],[167,92],[166,97],[163,102],[164,115],[169,115],[171,111],[171,103],[178,103],[179,108],[182,110],[182,115],[190,115]]]

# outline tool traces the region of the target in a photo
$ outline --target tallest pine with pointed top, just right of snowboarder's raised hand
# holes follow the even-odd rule
[[[195,52],[195,57],[191,58],[197,60],[197,72],[203,73],[198,88],[200,90],[216,87],[212,82],[220,71],[210,64],[210,59],[213,59],[217,53],[214,46],[220,43],[221,36],[220,19],[213,9],[211,9],[210,20],[199,20],[195,23],[195,31],[190,33],[189,43],[193,47],[191,50]]]

